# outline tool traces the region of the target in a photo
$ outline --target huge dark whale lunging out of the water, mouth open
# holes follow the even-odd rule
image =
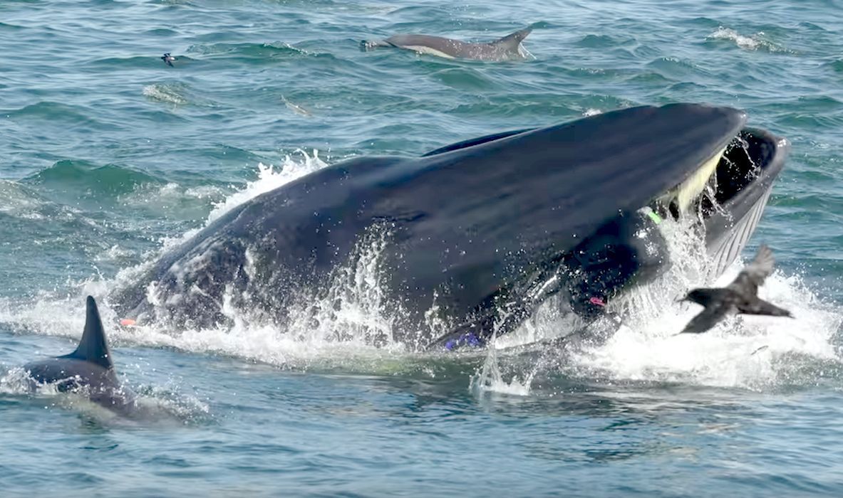
[[[790,147],[747,119],[645,105],[338,162],[229,210],[110,304],[139,325],[224,326],[243,310],[285,331],[303,303],[341,308],[337,287],[358,285],[365,267],[395,318],[367,332],[374,344],[485,347],[551,298],[587,327],[670,268],[665,220],[705,233],[713,272],[738,257]]]

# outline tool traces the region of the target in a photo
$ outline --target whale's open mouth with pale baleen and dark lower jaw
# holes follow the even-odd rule
[[[709,159],[681,183],[636,215],[609,221],[570,252],[566,267],[577,272],[567,292],[577,315],[602,314],[593,305],[594,296],[613,297],[622,289],[651,282],[669,268],[667,235],[656,229],[664,219],[691,217],[695,228],[704,230],[710,276],[722,274],[743,251],[784,166],[789,144],[765,130],[744,128],[726,146],[712,150]]]

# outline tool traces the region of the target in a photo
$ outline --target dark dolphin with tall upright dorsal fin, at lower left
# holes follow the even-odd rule
[[[76,351],[24,365],[39,384],[56,384],[61,392],[84,392],[94,403],[118,414],[132,411],[135,395],[117,379],[96,301],[87,299],[85,328]]]

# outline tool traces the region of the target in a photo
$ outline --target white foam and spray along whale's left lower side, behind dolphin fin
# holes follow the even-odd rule
[[[384,273],[380,255],[388,236],[384,230],[372,230],[364,237],[352,261],[336,269],[325,289],[299,296],[289,310],[290,322],[284,330],[252,310],[235,307],[235,297],[249,302],[249,296],[234,296],[229,289],[223,295],[223,314],[231,320],[231,326],[174,331],[165,323],[152,321],[148,326],[110,326],[110,340],[118,345],[222,353],[287,367],[308,368],[314,363],[334,367],[341,363],[356,368],[363,364],[382,373],[393,372],[403,367],[391,360],[406,349],[395,341],[404,312],[387,299],[381,286]],[[111,285],[92,279],[83,285],[82,295],[108,294]],[[151,291],[148,299],[155,303],[156,294]],[[0,301],[0,321],[40,334],[78,337],[84,322],[82,303],[81,296],[51,299],[46,295],[34,304]],[[106,324],[119,321],[104,300],[99,302],[99,311]],[[45,321],[46,316],[51,321]]]

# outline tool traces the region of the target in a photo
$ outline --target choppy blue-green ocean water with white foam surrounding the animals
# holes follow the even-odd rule
[[[838,0],[3,0],[2,495],[840,495],[841,13]],[[358,48],[525,25],[529,61]],[[121,327],[102,300],[319,167],[679,101],[746,109],[792,141],[744,257],[773,248],[761,294],[795,320],[672,337],[695,309],[651,289],[599,346],[423,355],[239,321]],[[356,292],[349,326],[379,324],[377,293]],[[87,294],[148,416],[24,389],[19,365],[78,341]]]

